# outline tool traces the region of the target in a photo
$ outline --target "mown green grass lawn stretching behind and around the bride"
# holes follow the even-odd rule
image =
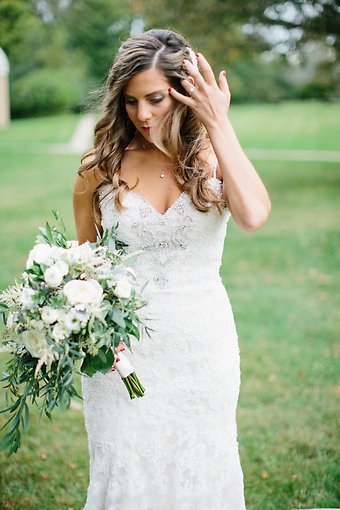
[[[307,131],[294,128],[294,137],[283,130],[284,142],[279,128],[275,137],[266,123],[262,133],[251,128],[275,105],[237,106],[233,116],[248,147],[335,150],[335,137],[331,143],[324,132],[332,132],[339,105],[332,105],[333,114],[328,106],[293,109],[289,104],[308,125]],[[280,108],[276,112],[276,125],[284,126],[289,115]],[[78,161],[76,156],[0,154],[1,287],[24,268],[36,227],[51,218],[52,208],[62,212],[74,235],[71,189]],[[340,172],[330,163],[254,163],[272,199],[271,216],[252,234],[230,221],[222,266],[241,351],[238,428],[247,510],[339,507]],[[5,359],[0,356],[2,370]],[[81,409],[59,411],[52,423],[39,420],[33,410],[21,450],[10,458],[0,454],[0,509],[80,510],[87,484]]]

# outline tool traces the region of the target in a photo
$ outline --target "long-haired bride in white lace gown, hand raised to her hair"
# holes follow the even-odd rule
[[[225,71],[216,81],[173,31],[127,39],[108,74],[74,185],[77,238],[118,223],[128,250],[141,250],[134,270],[153,332],[127,353],[143,398],[130,400],[114,370],[82,377],[84,510],[245,509],[238,338],[219,269],[230,217],[252,232],[271,205],[229,103]]]

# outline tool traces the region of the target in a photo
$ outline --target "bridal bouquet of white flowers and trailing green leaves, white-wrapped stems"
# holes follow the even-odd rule
[[[104,231],[95,243],[68,241],[59,226],[39,228],[20,280],[0,293],[5,322],[2,351],[9,351],[1,381],[7,388],[10,418],[0,431],[0,450],[8,455],[20,447],[20,429],[29,422],[27,401],[51,419],[55,407],[66,409],[71,397],[82,398],[74,374],[92,376],[116,370],[130,398],[142,397],[144,388],[128,358],[122,354],[131,337],[139,340],[144,325],[138,310],[145,306],[134,288],[126,245],[116,227]],[[147,331],[148,332],[148,331]],[[148,333],[149,334],[149,333]],[[9,398],[10,397],[10,398]]]

